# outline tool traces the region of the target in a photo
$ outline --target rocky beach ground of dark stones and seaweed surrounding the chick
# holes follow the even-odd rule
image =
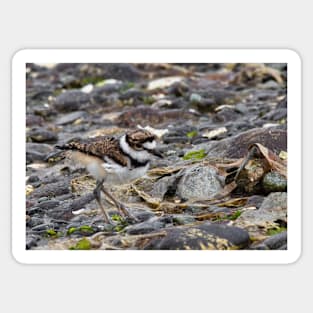
[[[287,249],[285,64],[27,65],[27,249]],[[21,104],[23,105],[23,104]],[[292,105],[292,104],[291,104]],[[57,152],[150,127],[164,158],[113,186]]]

